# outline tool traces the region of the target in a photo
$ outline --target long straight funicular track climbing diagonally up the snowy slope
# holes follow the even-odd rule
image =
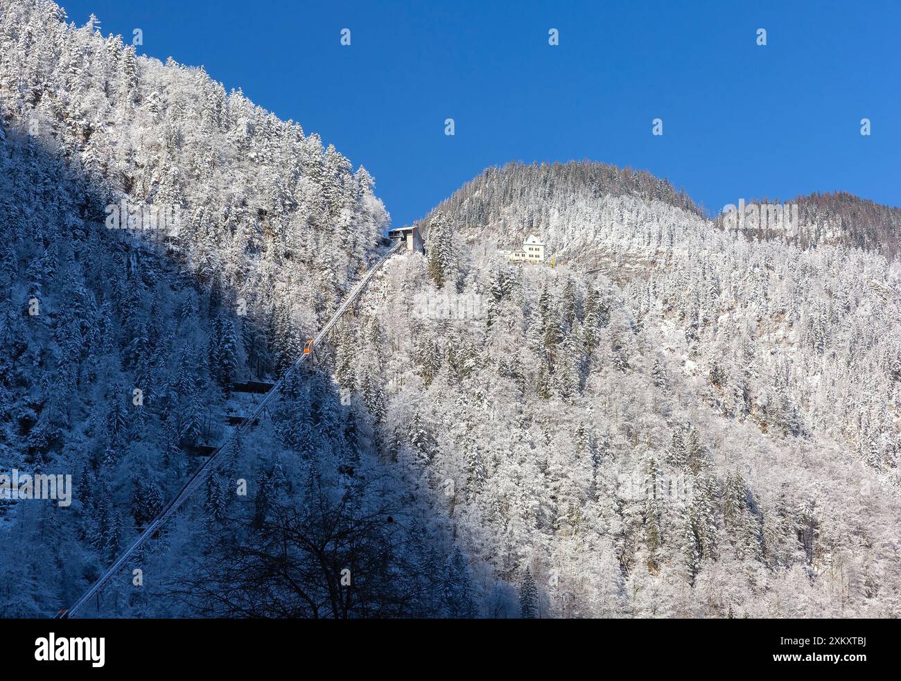
[[[389,249],[387,252],[379,258],[372,267],[367,270],[366,274],[357,282],[357,284],[350,289],[350,293],[345,296],[343,302],[338,307],[337,310],[332,314],[332,317],[326,322],[325,326],[323,326],[322,330],[316,334],[313,340],[313,347],[319,345],[319,343],[328,335],[329,331],[332,331],[332,327],[341,319],[341,316],[347,312],[348,308],[351,304],[353,304],[359,295],[362,293],[363,289],[366,288],[366,285],[369,284],[369,281],[376,275],[378,270],[385,264],[387,259],[391,258],[397,250],[399,250],[402,246],[405,245],[404,241],[396,241],[396,243]],[[232,441],[238,437],[241,433],[245,431],[249,431],[253,427],[253,423],[257,421],[259,416],[261,416],[266,410],[267,405],[273,399],[273,396],[278,393],[278,388],[282,386],[285,380],[290,377],[294,372],[300,368],[303,361],[308,357],[308,355],[302,354],[298,359],[296,359],[295,363],[291,365],[290,368],[282,375],[281,378],[278,379],[278,382],[272,389],[263,396],[263,399],[260,400],[257,405],[256,410],[251,413],[244,422],[241,423],[240,426],[236,427],[231,434],[223,441],[223,443],[215,449],[213,455],[205,461],[203,466],[197,469],[197,472],[191,477],[190,480],[187,481],[187,484],[181,488],[177,495],[174,498],[169,500],[168,504],[163,507],[163,510],[159,512],[156,518],[154,518],[150,524],[144,528],[144,531],[138,536],[137,539],[132,541],[131,545],[127,549],[124,549],[123,552],[116,558],[113,564],[106,569],[104,574],[99,577],[94,584],[88,587],[86,592],[81,595],[78,600],[73,603],[68,609],[60,610],[59,613],[56,614],[54,619],[68,619],[75,615],[81,607],[86,604],[92,597],[95,595],[99,595],[100,592],[104,589],[106,585],[109,584],[110,580],[113,579],[114,575],[128,562],[129,558],[132,558],[135,551],[141,548],[141,545],[144,544],[147,540],[150,539],[159,529],[171,518],[175,513],[177,513],[178,509],[181,508],[182,505],[187,502],[187,500],[194,495],[194,493],[199,489],[206,480],[210,477],[211,474],[214,473],[222,464],[225,457],[228,454],[230,449],[230,445]]]

